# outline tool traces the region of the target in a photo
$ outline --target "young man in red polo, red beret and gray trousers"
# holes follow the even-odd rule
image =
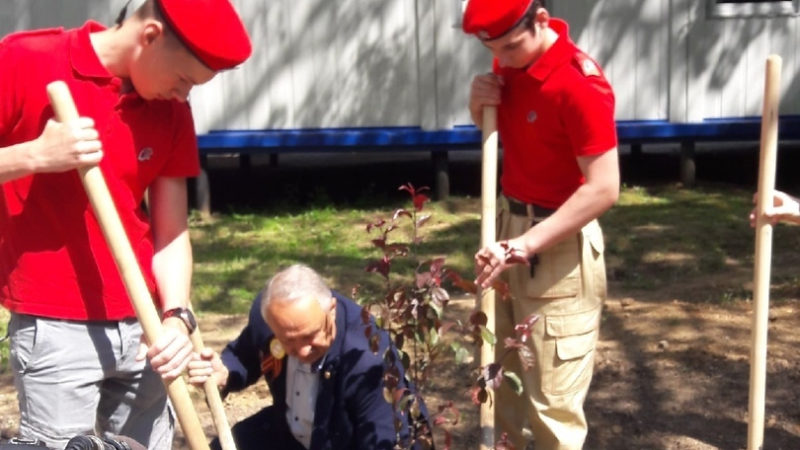
[[[111,28],[88,21],[0,41],[0,303],[11,311],[22,436],[63,447],[96,432],[172,447],[161,378],[186,367],[194,327],[186,177],[199,164],[186,99],[250,52],[228,0],[145,0]],[[83,118],[52,120],[54,80]],[[98,163],[163,312],[149,349],[73,170]]]

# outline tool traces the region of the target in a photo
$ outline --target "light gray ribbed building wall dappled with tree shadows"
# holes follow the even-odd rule
[[[136,0],[134,0],[134,3]],[[254,56],[192,93],[212,129],[468,124],[469,83],[490,55],[460,30],[461,0],[233,0]],[[721,17],[713,0],[549,0],[603,66],[618,119],[757,116],[764,61],[783,57],[782,114],[800,114],[797,1]],[[788,2],[781,2],[788,3]],[[0,0],[0,34],[86,18],[124,0]]]

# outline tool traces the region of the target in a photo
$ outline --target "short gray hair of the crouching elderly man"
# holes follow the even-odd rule
[[[306,297],[316,298],[323,310],[330,308],[333,302],[331,289],[314,269],[304,264],[291,265],[267,282],[264,295],[261,296],[261,314],[264,315],[267,306],[275,299],[294,302]]]

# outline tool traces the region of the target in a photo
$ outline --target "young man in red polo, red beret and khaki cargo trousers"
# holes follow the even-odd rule
[[[525,392],[498,390],[497,431],[520,449],[525,426],[537,449],[580,449],[606,296],[596,219],[619,195],[614,94],[541,0],[470,0],[463,28],[494,55],[493,73],[472,83],[470,113],[480,126],[483,107],[496,106],[503,143],[499,241],[475,255],[476,281],[488,287],[502,273],[509,282],[513,300],[497,305],[501,339],[540,316],[535,366],[506,361]]]

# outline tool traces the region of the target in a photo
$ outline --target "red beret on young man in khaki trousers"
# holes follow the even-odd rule
[[[469,0],[461,27],[483,41],[497,39],[519,24],[533,0]]]

